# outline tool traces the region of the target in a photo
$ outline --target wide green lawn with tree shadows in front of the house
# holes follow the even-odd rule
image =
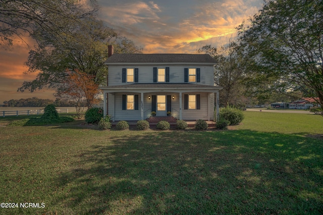
[[[0,119],[0,201],[40,206],[0,213],[322,214],[323,117],[244,114],[225,131]]]

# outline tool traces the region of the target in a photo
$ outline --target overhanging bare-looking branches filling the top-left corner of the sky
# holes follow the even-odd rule
[[[16,37],[34,37],[35,30],[50,32],[52,38],[72,34],[70,23],[92,16],[95,1],[77,0],[0,0],[0,45],[12,45]],[[80,22],[81,23],[81,22]],[[27,33],[27,35],[26,35]],[[34,39],[37,39],[34,37]]]

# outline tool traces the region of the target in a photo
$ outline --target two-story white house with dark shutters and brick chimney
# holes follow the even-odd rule
[[[104,115],[111,115],[113,121],[152,115],[212,120],[214,103],[219,113],[222,87],[214,86],[217,62],[210,55],[113,54],[113,47],[109,52],[107,86],[100,89]]]

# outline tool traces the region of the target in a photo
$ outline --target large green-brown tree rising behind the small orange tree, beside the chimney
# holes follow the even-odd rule
[[[50,32],[38,32],[38,45],[29,52],[26,62],[26,73],[37,73],[33,81],[25,81],[20,91],[41,89],[43,87],[58,88],[67,78],[66,69],[78,69],[93,77],[96,84],[105,82],[107,67],[107,47],[112,38],[117,37],[110,28],[101,21],[91,17],[74,23],[73,35],[61,34],[60,38],[51,37]]]

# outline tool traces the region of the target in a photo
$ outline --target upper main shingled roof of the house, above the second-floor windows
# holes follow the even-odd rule
[[[175,63],[196,62],[216,63],[208,54],[113,54],[107,60],[109,63]]]

